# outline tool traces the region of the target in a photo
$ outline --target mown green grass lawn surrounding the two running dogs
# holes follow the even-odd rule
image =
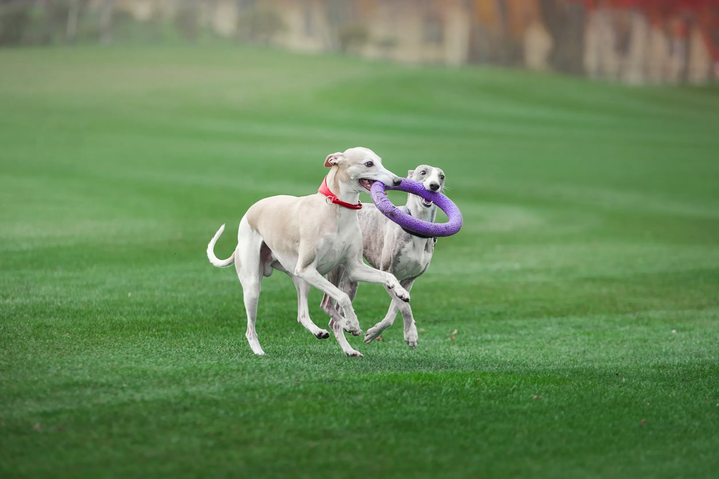
[[[718,132],[716,87],[2,50],[0,474],[716,477]],[[206,244],[354,146],[444,168],[464,214],[412,290],[419,347],[398,320],[345,357],[277,272],[256,357]],[[364,330],[388,302],[360,285]]]

